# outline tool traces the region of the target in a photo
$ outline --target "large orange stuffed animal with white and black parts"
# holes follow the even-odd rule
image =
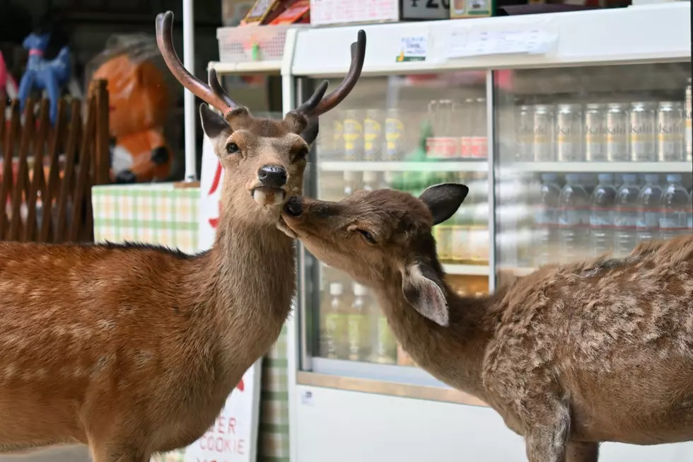
[[[168,91],[161,71],[148,59],[134,61],[122,53],[101,64],[92,79],[107,81],[109,129],[115,138],[112,180],[168,179],[173,156],[163,136]]]

